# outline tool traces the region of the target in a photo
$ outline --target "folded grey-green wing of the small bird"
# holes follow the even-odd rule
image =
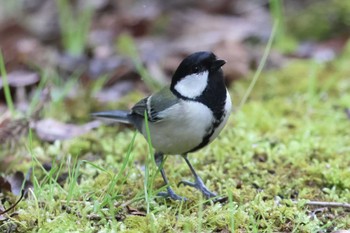
[[[160,112],[177,104],[179,99],[170,91],[169,87],[161,89],[159,92],[148,96],[132,108],[132,113],[144,117],[145,111],[147,112],[148,120],[156,122],[164,119],[164,116],[160,116]]]

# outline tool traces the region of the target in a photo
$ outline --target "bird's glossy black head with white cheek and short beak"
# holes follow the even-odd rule
[[[180,63],[173,75],[170,89],[180,98],[199,98],[209,86],[218,83],[224,85],[221,66],[225,63],[212,52],[193,53]]]

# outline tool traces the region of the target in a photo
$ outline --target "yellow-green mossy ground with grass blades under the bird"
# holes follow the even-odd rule
[[[25,139],[12,152],[17,159],[10,169],[32,168],[34,189],[16,207],[18,215],[0,227],[15,226],[20,232],[349,229],[349,210],[304,205],[305,200],[350,202],[347,61],[294,61],[265,71],[219,138],[189,156],[207,186],[229,196],[226,203],[214,204],[196,190],[176,187],[180,180],[192,179],[179,156],[168,157],[164,167],[174,190],[189,201],[155,198],[162,179],[147,159],[146,140],[138,134],[132,143],[132,129],[104,126],[53,144],[41,143],[35,135]],[[249,82],[240,80],[230,88],[236,106]],[[129,95],[124,102],[135,102],[135,97],[141,95]],[[42,168],[44,162],[52,163],[50,171]],[[147,198],[145,181],[152,186]]]

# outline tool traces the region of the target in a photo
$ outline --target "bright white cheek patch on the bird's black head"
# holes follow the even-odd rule
[[[199,74],[187,75],[175,85],[175,90],[184,97],[191,99],[196,98],[200,96],[207,87],[208,74],[208,71],[204,71]]]

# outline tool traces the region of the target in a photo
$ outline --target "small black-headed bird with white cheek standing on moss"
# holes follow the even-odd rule
[[[170,86],[142,99],[130,111],[93,113],[94,117],[110,118],[135,126],[147,139],[148,130],[155,149],[155,161],[167,191],[158,195],[173,200],[186,200],[169,185],[162,166],[164,155],[181,155],[189,166],[194,182],[179,183],[200,190],[207,198],[215,197],[197,175],[187,154],[212,142],[225,126],[231,112],[221,67],[226,61],[212,52],[196,52],[186,57],[173,74]]]

